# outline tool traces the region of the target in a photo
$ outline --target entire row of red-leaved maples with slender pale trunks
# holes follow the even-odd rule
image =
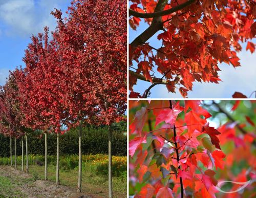
[[[23,58],[26,67],[10,72],[0,87],[0,133],[14,141],[27,140],[30,130],[41,130],[46,140],[48,133],[56,133],[58,184],[58,137],[79,126],[81,192],[82,125],[110,126],[126,110],[126,1],[72,1],[67,14],[52,12],[56,29],[49,33],[46,27],[31,37]],[[45,161],[47,180],[47,141]]]

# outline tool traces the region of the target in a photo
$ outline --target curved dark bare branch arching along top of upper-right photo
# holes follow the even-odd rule
[[[183,4],[180,4],[174,8],[170,8],[168,10],[164,10],[164,11],[155,11],[154,13],[140,13],[140,12],[136,12],[132,9],[129,9],[129,16],[133,15],[139,18],[153,18],[153,17],[159,17],[159,16],[164,16],[167,14],[172,14],[176,11],[179,11],[187,6],[189,6],[190,4],[193,4],[195,2],[195,0],[189,0]]]

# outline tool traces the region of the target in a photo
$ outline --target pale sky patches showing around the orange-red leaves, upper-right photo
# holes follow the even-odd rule
[[[134,40],[140,33],[142,33],[148,27],[147,24],[141,21],[137,31],[132,30],[129,27],[129,43]],[[160,31],[159,31],[160,33]],[[150,40],[150,45],[155,48],[161,47],[161,41],[157,39],[155,34]],[[253,41],[255,42],[256,39]],[[251,54],[246,51],[246,43],[242,45],[243,50],[238,54],[241,59],[240,63],[242,67],[237,67],[236,69],[232,65],[222,63],[219,72],[222,82],[219,84],[215,83],[193,83],[193,91],[188,92],[188,98],[232,98],[234,92],[241,92],[247,96],[256,90],[256,53]],[[136,67],[135,67],[136,68]],[[156,70],[154,70],[156,77],[161,77],[157,75]],[[151,85],[150,82],[145,82],[142,80],[137,81],[137,85],[134,86],[134,91],[139,93],[144,93],[144,91]],[[156,85],[151,89],[150,98],[182,98],[179,91],[174,93],[168,93],[165,85]]]

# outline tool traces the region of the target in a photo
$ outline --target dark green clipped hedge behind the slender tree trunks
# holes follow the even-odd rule
[[[112,154],[114,156],[126,156],[126,122],[115,123],[112,126],[113,141]],[[13,154],[14,154],[14,141]],[[21,139],[16,141],[17,155],[21,155]],[[24,141],[25,146],[25,141]],[[39,131],[28,134],[28,149],[33,155],[44,155],[45,138]],[[59,137],[60,155],[76,155],[78,153],[78,128],[73,128]],[[56,135],[48,135],[48,153],[56,154]],[[96,154],[108,153],[108,127],[106,126],[87,126],[82,129],[82,153]],[[0,156],[10,156],[10,139],[0,134]]]

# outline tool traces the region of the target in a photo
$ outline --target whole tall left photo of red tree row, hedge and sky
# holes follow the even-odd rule
[[[0,0],[0,197],[127,197],[126,0]]]

